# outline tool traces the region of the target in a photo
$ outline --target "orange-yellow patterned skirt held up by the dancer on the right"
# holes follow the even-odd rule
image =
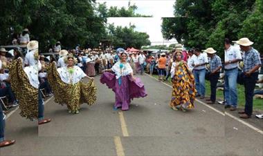
[[[197,92],[194,88],[194,75],[185,64],[176,66],[174,71],[170,106],[194,108],[194,99]]]

